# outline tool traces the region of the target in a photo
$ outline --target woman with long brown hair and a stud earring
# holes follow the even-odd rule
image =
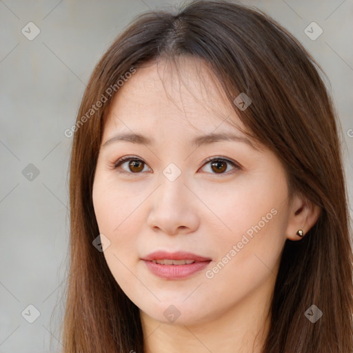
[[[278,23],[141,15],[85,90],[63,352],[352,352],[336,115]]]

